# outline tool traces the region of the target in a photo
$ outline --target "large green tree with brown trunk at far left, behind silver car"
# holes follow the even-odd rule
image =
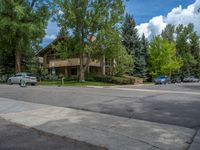
[[[21,71],[26,58],[45,36],[49,19],[46,0],[0,1],[1,53],[15,57],[15,71]]]

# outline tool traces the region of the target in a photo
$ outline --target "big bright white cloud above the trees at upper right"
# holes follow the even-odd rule
[[[137,26],[139,35],[144,35],[150,39],[154,35],[158,35],[165,28],[166,24],[194,24],[194,29],[200,35],[200,0],[196,0],[194,4],[183,9],[182,6],[174,8],[167,16],[157,16],[152,18],[148,23]]]

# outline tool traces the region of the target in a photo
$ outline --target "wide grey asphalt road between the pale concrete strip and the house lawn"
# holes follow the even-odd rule
[[[0,85],[0,97],[200,127],[200,83],[128,86],[125,89]]]

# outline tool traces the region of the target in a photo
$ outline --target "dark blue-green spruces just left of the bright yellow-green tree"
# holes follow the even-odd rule
[[[145,77],[147,42],[144,36],[142,39],[139,38],[135,20],[130,14],[126,14],[122,27],[122,37],[123,45],[125,46],[127,52],[132,55],[134,60],[132,75]]]

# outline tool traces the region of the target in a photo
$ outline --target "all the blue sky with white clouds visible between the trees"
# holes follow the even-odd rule
[[[159,35],[167,24],[194,24],[200,36],[200,0],[129,0],[125,3],[126,13],[132,14],[138,33],[151,39]],[[59,28],[49,21],[42,46],[46,46],[56,35]]]

